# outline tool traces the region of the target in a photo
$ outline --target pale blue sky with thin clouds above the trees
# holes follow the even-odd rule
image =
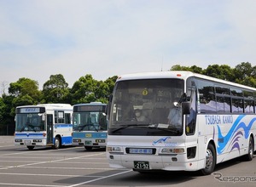
[[[0,83],[256,65],[255,0],[0,0]]]

